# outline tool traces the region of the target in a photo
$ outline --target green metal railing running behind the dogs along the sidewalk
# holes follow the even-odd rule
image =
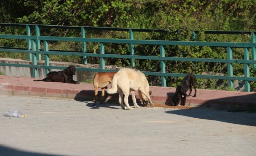
[[[12,64],[12,63],[0,63],[0,66],[15,66],[15,67],[29,67],[33,70],[33,77],[37,77],[37,69],[44,68],[46,74],[49,69],[65,69],[66,67],[49,66],[49,55],[73,55],[82,56],[83,63],[87,63],[86,57],[99,57],[100,58],[100,69],[96,68],[77,68],[78,71],[93,71],[93,72],[110,72],[117,71],[111,69],[105,69],[105,58],[126,58],[131,59],[131,66],[135,64],[133,59],[151,59],[160,60],[161,71],[160,72],[143,72],[145,75],[161,76],[161,83],[163,87],[166,87],[166,76],[184,77],[186,74],[182,73],[166,73],[165,62],[166,61],[191,61],[191,62],[219,62],[227,63],[228,73],[227,76],[215,76],[215,75],[196,75],[197,78],[203,79],[222,79],[228,80],[228,85],[233,88],[234,80],[245,81],[245,91],[250,91],[249,81],[256,81],[256,77],[250,77],[249,64],[253,64],[255,69],[256,54],[255,54],[255,32],[254,31],[205,31],[206,34],[250,34],[252,43],[238,43],[238,42],[193,42],[193,41],[153,41],[153,40],[136,40],[133,38],[133,32],[158,32],[164,33],[164,30],[158,29],[129,29],[129,28],[102,28],[102,27],[78,27],[78,26],[51,26],[51,25],[24,25],[24,24],[0,24],[0,26],[20,26],[26,28],[27,35],[0,35],[0,38],[5,39],[25,39],[28,42],[27,49],[25,48],[13,48],[13,47],[0,47],[0,52],[22,52],[27,53],[29,59],[32,60],[32,64]],[[30,28],[35,27],[36,35],[30,34]],[[49,37],[40,36],[40,28],[59,28],[59,29],[80,29],[81,37]],[[115,30],[115,31],[128,31],[129,39],[106,39],[106,38],[87,38],[86,30]],[[198,31],[193,31],[193,37],[196,36]],[[40,42],[44,42],[44,50],[40,50]],[[57,51],[49,50],[48,41],[73,41],[82,43],[81,52],[72,51]],[[99,54],[92,54],[86,52],[86,43],[96,42],[100,44]],[[130,55],[116,55],[116,54],[105,54],[104,43],[121,43],[130,45]],[[160,56],[141,56],[134,54],[134,45],[158,45],[160,46]],[[211,58],[178,58],[178,57],[166,57],[164,46],[210,46],[210,47],[224,47],[227,49],[227,59],[211,59]],[[232,59],[232,49],[243,48],[244,59]],[[252,51],[252,60],[249,60],[249,50]],[[45,65],[37,65],[37,60],[41,60],[41,54],[45,55]],[[244,64],[244,77],[233,75],[233,64],[239,63]]]

